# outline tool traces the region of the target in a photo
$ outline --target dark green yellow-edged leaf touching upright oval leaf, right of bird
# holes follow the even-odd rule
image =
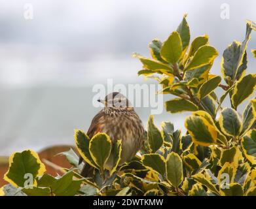
[[[154,172],[158,172],[162,176],[164,176],[166,169],[165,169],[165,159],[162,155],[151,153],[142,155],[141,161],[145,167],[149,170],[153,170]]]

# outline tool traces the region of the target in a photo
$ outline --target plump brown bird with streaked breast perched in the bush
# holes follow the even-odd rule
[[[130,161],[141,149],[145,129],[143,123],[132,106],[132,103],[119,92],[112,92],[104,99],[98,99],[103,103],[103,109],[94,116],[87,131],[89,138],[97,133],[106,133],[112,142],[122,140],[122,152],[119,166]],[[79,159],[79,164],[83,161]],[[112,153],[107,160],[105,167],[109,170],[113,167]],[[81,175],[92,177],[93,168],[84,162]]]

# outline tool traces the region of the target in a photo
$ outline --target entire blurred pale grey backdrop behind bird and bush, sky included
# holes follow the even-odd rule
[[[27,3],[32,19],[24,18]],[[226,20],[223,3],[230,7]],[[185,13],[191,39],[206,33],[219,51],[211,72],[220,74],[223,50],[232,40],[244,40],[246,20],[256,21],[255,8],[254,0],[0,0],[0,155],[73,145],[73,129],[87,131],[100,110],[92,105],[94,84],[105,85],[107,78],[114,84],[145,83],[132,53],[149,56],[149,42],[165,40]],[[247,72],[256,67],[251,48],[255,32]],[[146,123],[150,108],[136,111]],[[155,121],[184,129],[186,115],[164,110]]]

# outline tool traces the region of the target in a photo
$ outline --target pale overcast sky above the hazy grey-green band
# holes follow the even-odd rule
[[[33,20],[24,18],[26,3],[33,7]],[[229,4],[229,20],[221,19],[223,3]],[[232,40],[244,39],[246,20],[256,20],[255,8],[253,0],[0,0],[0,84],[92,85],[106,76],[139,81],[141,65],[131,54],[149,55],[149,42],[166,39],[185,13],[191,37],[208,34],[220,58]]]

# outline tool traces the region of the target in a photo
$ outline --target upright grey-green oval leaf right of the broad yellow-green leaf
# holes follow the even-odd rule
[[[236,110],[232,108],[224,108],[219,116],[219,125],[221,131],[227,136],[237,137],[242,131],[242,122]]]

